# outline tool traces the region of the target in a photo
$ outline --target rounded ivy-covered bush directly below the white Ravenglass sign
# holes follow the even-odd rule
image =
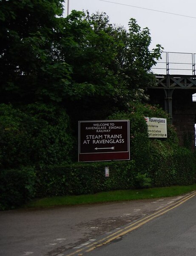
[[[149,169],[153,186],[188,185],[195,182],[193,152],[166,141],[151,141],[152,163]]]

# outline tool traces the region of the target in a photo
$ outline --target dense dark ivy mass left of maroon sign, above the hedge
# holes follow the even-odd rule
[[[65,163],[72,145],[64,110],[31,104],[21,111],[0,104],[0,169]]]

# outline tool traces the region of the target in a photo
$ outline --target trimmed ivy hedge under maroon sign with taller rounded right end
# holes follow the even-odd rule
[[[36,196],[194,183],[195,159],[188,149],[160,140],[151,140],[150,148],[151,158],[145,169],[139,169],[134,160],[45,166],[37,170]],[[105,177],[105,166],[110,169],[109,177]]]

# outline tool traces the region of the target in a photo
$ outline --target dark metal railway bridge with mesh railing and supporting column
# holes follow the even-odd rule
[[[169,113],[180,143],[189,143],[194,147],[196,54],[162,52],[162,58],[151,70],[157,79],[157,86],[148,89],[151,103],[161,106]]]

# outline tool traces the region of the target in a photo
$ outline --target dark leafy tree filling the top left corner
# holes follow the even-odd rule
[[[1,102],[61,100],[71,73],[57,52],[62,2],[0,1]]]

